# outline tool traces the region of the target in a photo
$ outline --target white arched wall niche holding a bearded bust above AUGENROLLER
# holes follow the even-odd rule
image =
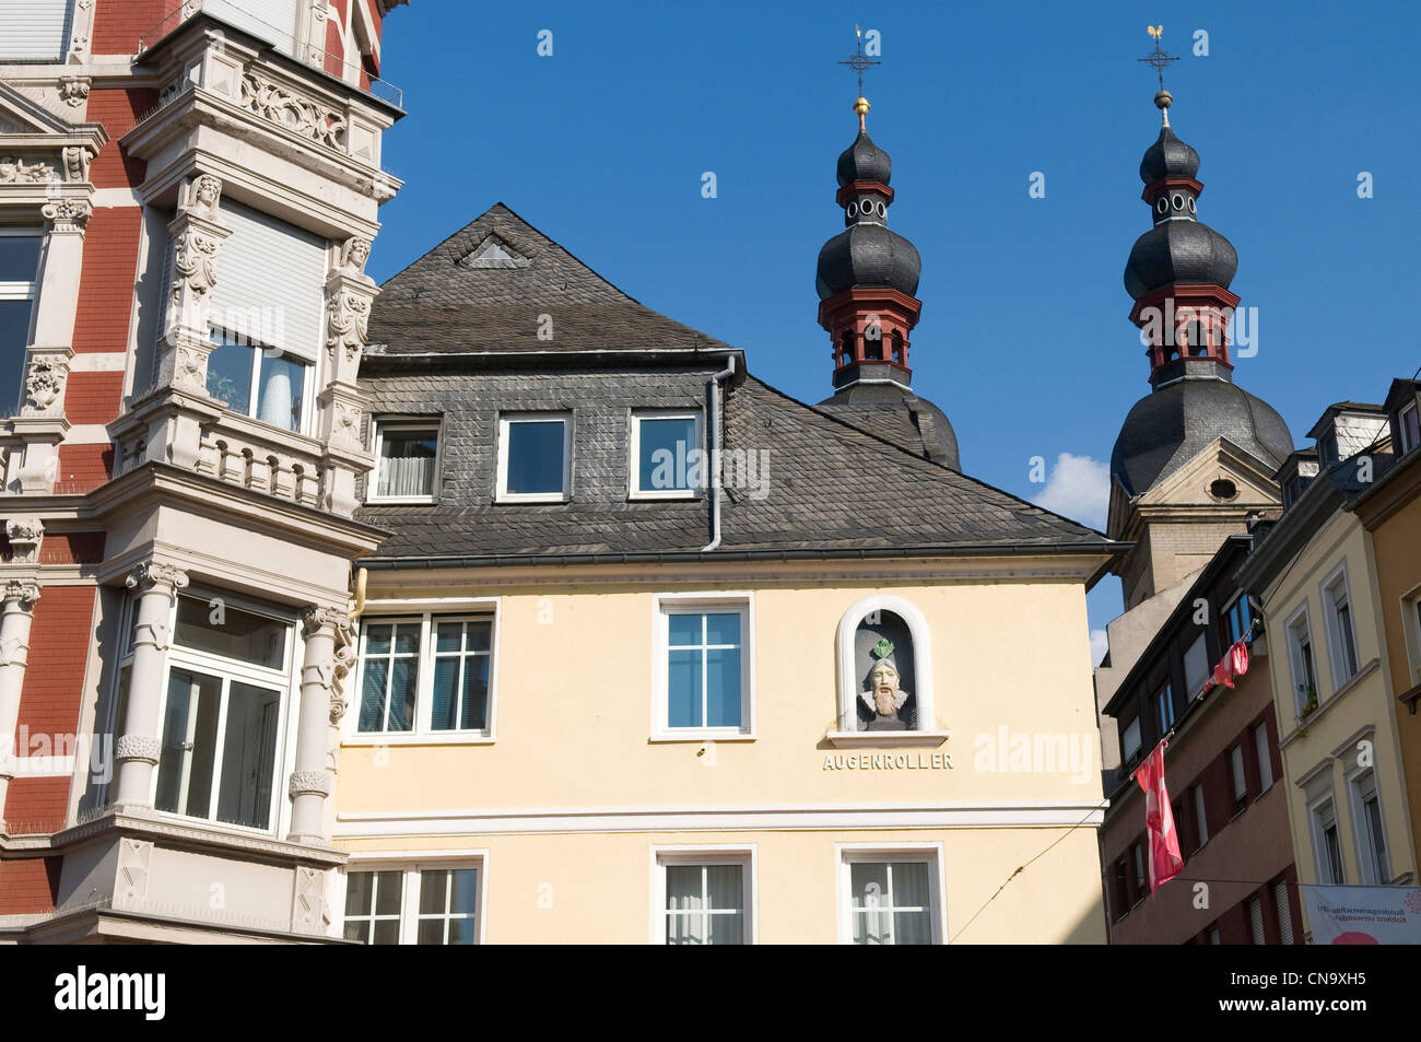
[[[838,623],[838,731],[909,738],[938,731],[928,623],[909,601],[874,594]]]

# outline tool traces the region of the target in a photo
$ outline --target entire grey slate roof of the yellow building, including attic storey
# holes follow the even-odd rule
[[[530,263],[459,267],[458,260],[477,250],[493,230],[510,253]],[[568,307],[563,294],[577,301],[573,308],[601,308],[617,316],[635,330],[632,338],[608,338],[590,321],[574,326],[566,338],[560,333],[550,344],[536,335],[530,343],[520,340],[519,347],[541,353],[531,362],[527,355],[510,354],[499,337],[517,328],[530,306],[561,314]],[[429,411],[446,414],[448,431],[456,425],[452,421],[460,419],[452,412],[462,411],[460,422],[469,421],[468,414],[490,414],[514,392],[546,394],[544,388],[563,380],[580,395],[576,408],[587,414],[587,422],[578,419],[574,425],[573,502],[563,505],[492,502],[487,475],[472,476],[469,471],[487,469],[487,428],[496,421],[463,422],[458,438],[442,449],[442,468],[452,475],[445,490],[453,488],[453,495],[442,492],[441,502],[429,506],[368,506],[358,512],[361,520],[392,533],[365,563],[696,556],[709,542],[705,496],[628,500],[625,417],[628,404],[645,402],[651,391],[672,385],[688,399],[703,398],[710,372],[722,368],[726,354],[739,354],[735,348],[627,297],[502,205],[385,283],[371,330],[372,340],[385,340],[384,351],[368,355],[362,367],[362,382],[371,387],[377,409],[408,412],[423,394],[423,401],[436,404]],[[666,344],[696,347],[703,354],[655,360],[652,353]],[[638,365],[607,367],[587,355],[588,350],[638,347],[645,348]],[[566,354],[549,357],[558,351]],[[411,360],[401,358],[408,353],[435,357],[426,355],[412,370]],[[708,357],[710,353],[718,357]],[[549,372],[554,365],[567,374]],[[585,375],[590,368],[598,371],[595,381]],[[524,392],[524,384],[531,391]],[[446,391],[432,390],[436,387]],[[834,415],[847,411],[806,405],[746,374],[743,367],[728,382],[723,402],[725,448],[752,455],[756,466],[767,458],[767,473],[753,473],[766,476],[767,485],[760,495],[755,483],[736,488],[737,482],[728,480],[720,547],[706,559],[1108,553],[1125,546],[894,444],[894,434],[907,432],[878,436]],[[581,438],[593,441],[580,448]],[[618,444],[601,444],[611,439]],[[921,435],[917,441],[921,445]],[[588,462],[581,478],[580,452]],[[620,472],[617,463],[608,462],[615,458],[622,461]]]

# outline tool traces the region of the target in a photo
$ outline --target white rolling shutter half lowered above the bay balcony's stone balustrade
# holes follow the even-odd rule
[[[315,358],[325,307],[325,240],[250,206],[222,200],[232,235],[217,252],[213,327]]]

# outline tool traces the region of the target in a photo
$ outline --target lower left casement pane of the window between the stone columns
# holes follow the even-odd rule
[[[155,806],[159,810],[207,816],[220,704],[220,677],[192,670],[173,670],[169,675],[163,745],[158,759]]]

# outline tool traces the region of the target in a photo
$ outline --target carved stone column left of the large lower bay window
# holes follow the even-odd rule
[[[163,704],[163,665],[168,658],[168,618],[173,597],[188,586],[188,573],[173,564],[148,562],[125,580],[138,591],[134,624],[134,664],[128,672],[128,712],[114,748],[118,785],[114,802],[124,806],[153,805],[153,769],[162,741],[159,711]]]

